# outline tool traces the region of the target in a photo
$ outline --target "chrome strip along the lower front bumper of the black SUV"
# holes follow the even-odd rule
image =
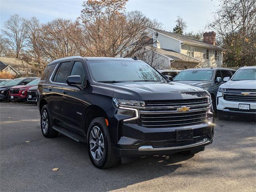
[[[203,144],[208,144],[211,141],[209,139],[204,139],[203,141],[194,143],[194,144],[190,144],[190,145],[184,145],[184,146],[176,146],[176,147],[161,147],[161,148],[153,148],[151,145],[148,146],[140,146],[138,148],[139,151],[165,151],[165,150],[177,150],[177,149],[186,149],[186,148],[190,148],[190,147],[195,147],[195,146],[200,146]]]

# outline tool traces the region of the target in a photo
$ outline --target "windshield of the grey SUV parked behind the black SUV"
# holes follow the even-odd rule
[[[174,81],[210,81],[213,71],[182,71],[173,79]]]

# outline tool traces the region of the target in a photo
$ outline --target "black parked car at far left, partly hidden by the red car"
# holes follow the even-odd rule
[[[36,79],[36,77],[22,77],[11,80],[5,85],[0,86],[0,101],[7,100],[10,101],[9,90],[16,85],[26,85],[32,80]]]

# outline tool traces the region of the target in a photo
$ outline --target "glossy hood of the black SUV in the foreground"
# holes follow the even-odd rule
[[[123,82],[115,84],[98,83],[98,88],[112,90],[112,96],[130,100],[173,100],[193,99],[208,96],[208,92],[197,87],[176,82]]]

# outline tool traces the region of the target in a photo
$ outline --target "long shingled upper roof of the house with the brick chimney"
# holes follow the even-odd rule
[[[164,30],[159,30],[159,29],[156,29],[156,28],[149,28],[149,29],[151,29],[153,31],[156,31],[158,33],[162,33],[162,34],[164,34],[166,36],[178,39],[178,40],[183,41],[185,43],[198,44],[198,45],[204,46],[204,47],[210,47],[210,48],[214,48],[214,49],[218,49],[218,50],[225,50],[225,49],[220,48],[218,46],[214,46],[214,45],[202,42],[202,41],[200,41],[198,39],[195,39],[195,38],[192,38],[192,37],[189,37],[189,36],[180,35],[180,34],[177,34],[177,33],[168,32],[168,31],[164,31]]]

